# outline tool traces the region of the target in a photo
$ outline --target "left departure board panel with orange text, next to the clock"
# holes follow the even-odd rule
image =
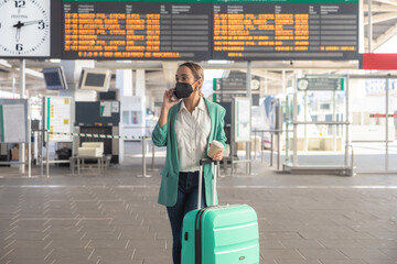
[[[211,58],[210,2],[63,1],[63,58]]]

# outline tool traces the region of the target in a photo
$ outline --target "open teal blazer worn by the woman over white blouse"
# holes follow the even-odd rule
[[[226,135],[224,131],[224,117],[226,110],[217,103],[211,102],[203,98],[211,118],[211,131],[207,141],[207,150],[210,150],[210,143],[214,140],[222,142],[225,145]],[[161,170],[161,185],[159,191],[158,202],[167,207],[172,207],[176,204],[178,196],[178,182],[179,182],[179,157],[178,145],[175,136],[175,121],[178,112],[180,110],[181,102],[173,106],[168,116],[167,124],[161,129],[159,123],[155,125],[152,132],[152,140],[157,146],[167,146],[167,157],[163,169]],[[214,164],[204,165],[204,185],[205,185],[205,201],[207,206],[212,206],[213,194],[213,170]]]

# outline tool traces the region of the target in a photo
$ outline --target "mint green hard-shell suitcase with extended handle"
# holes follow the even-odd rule
[[[202,189],[203,164],[208,162],[213,161],[200,161],[198,190]],[[215,172],[218,169],[217,162]],[[198,208],[200,201],[201,191]],[[182,264],[258,264],[259,231],[255,210],[247,205],[230,205],[187,212],[183,219],[181,260]]]

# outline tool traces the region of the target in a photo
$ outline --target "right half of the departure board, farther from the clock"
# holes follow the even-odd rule
[[[214,59],[357,59],[358,1],[213,1]]]

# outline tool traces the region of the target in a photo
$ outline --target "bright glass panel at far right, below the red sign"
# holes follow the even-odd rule
[[[351,140],[357,173],[386,170],[386,79],[351,81]],[[389,120],[390,121],[390,120]],[[389,122],[390,128],[393,122]],[[395,139],[388,131],[389,141]]]

